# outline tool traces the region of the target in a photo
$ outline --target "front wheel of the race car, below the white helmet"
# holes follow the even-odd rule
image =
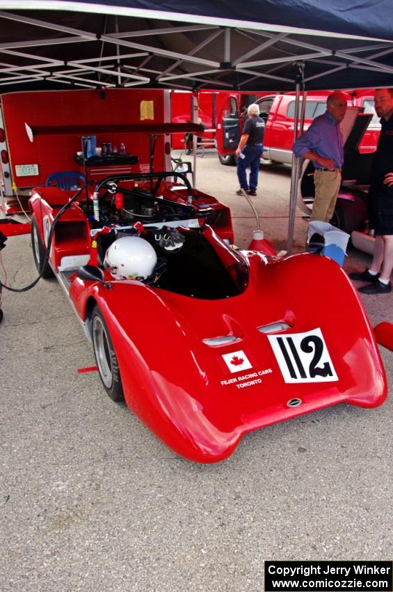
[[[122,380],[120,378],[118,358],[109,335],[108,327],[99,306],[95,306],[92,315],[93,348],[97,361],[99,377],[108,396],[119,403],[124,400]]]

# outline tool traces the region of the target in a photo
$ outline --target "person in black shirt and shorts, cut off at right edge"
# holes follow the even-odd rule
[[[369,270],[349,274],[351,279],[367,281],[362,294],[392,292],[393,269],[393,88],[375,91],[376,114],[380,116],[380,136],[371,168],[369,189],[369,228],[376,236]]]

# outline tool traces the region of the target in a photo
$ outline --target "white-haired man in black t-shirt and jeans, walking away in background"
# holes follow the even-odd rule
[[[248,119],[244,123],[243,134],[236,149],[237,176],[240,189],[236,192],[242,194],[242,190],[248,195],[257,195],[258,173],[261,156],[264,151],[263,140],[265,123],[259,117],[259,105],[250,104],[247,109]],[[247,181],[247,168],[250,167],[250,183]]]

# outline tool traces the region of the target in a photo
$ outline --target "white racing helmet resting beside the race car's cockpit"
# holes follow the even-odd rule
[[[147,279],[157,265],[157,255],[150,242],[139,236],[115,240],[106,251],[104,266],[115,279]]]

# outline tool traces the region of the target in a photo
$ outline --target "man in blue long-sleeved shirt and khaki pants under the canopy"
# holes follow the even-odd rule
[[[315,198],[310,220],[329,222],[335,211],[344,162],[344,142],[339,124],[346,114],[346,95],[330,93],[326,111],[316,117],[292,150],[297,157],[309,158],[315,167]]]

